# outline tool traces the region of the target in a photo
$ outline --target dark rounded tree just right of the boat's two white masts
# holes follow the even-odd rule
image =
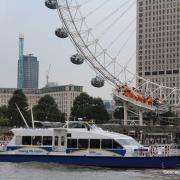
[[[34,117],[38,121],[64,122],[65,114],[61,113],[53,97],[45,95],[33,107]]]

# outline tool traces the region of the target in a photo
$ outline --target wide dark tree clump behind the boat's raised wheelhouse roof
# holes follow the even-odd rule
[[[101,98],[93,98],[83,92],[73,102],[71,117],[94,119],[96,123],[104,123],[109,119],[109,114]]]

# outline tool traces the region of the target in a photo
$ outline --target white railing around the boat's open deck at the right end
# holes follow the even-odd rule
[[[135,156],[178,156],[180,150],[176,144],[156,144],[135,151]]]

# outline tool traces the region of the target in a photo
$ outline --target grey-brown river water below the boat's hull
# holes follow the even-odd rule
[[[0,180],[172,180],[179,170],[125,170],[45,163],[0,163]]]

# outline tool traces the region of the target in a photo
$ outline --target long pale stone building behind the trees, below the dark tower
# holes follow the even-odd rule
[[[0,106],[8,105],[8,101],[15,90],[17,89],[0,88]],[[58,109],[66,114],[66,119],[69,119],[73,101],[83,92],[83,87],[76,85],[64,85],[45,87],[42,89],[23,89],[23,92],[28,99],[29,106],[36,105],[39,99],[45,95],[52,96],[58,105]]]

